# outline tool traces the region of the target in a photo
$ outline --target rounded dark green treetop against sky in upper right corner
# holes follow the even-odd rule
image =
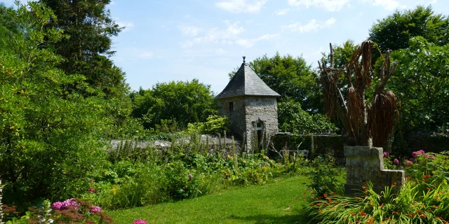
[[[449,43],[449,18],[435,14],[431,6],[396,10],[393,15],[377,20],[370,29],[369,39],[385,52],[408,48],[408,41],[414,36],[422,36],[436,45]]]

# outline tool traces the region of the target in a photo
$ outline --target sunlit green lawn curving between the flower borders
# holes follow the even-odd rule
[[[180,202],[110,211],[116,223],[307,223],[304,176]],[[290,209],[288,209],[290,207]]]

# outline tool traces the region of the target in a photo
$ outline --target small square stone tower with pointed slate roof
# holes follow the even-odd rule
[[[243,57],[239,70],[215,99],[219,115],[232,122],[231,134],[238,139],[244,136],[249,149],[251,134],[257,134],[257,144],[265,148],[264,139],[278,132],[277,97],[280,95],[255,74]]]

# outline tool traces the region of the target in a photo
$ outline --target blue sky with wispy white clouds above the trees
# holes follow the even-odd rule
[[[330,42],[360,43],[377,19],[429,4],[449,15],[448,0],[113,0],[126,28],[112,59],[133,90],[197,78],[218,94],[242,56],[302,55],[315,67]]]

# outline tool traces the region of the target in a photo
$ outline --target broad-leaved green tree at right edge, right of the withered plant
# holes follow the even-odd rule
[[[410,47],[391,53],[401,66],[389,88],[401,101],[401,130],[449,129],[449,44],[436,45],[422,37]]]

